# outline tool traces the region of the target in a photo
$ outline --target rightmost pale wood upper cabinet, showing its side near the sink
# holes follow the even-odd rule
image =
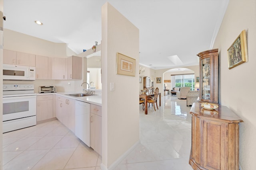
[[[66,79],[82,79],[82,57],[71,56],[66,59]]]

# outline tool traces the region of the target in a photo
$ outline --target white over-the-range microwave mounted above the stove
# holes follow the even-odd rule
[[[3,80],[36,80],[36,67],[3,64]]]

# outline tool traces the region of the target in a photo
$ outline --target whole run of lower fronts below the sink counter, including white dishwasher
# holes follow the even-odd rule
[[[102,108],[56,95],[56,117],[86,145],[102,154]]]

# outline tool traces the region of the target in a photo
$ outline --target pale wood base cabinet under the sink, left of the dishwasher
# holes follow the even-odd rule
[[[56,117],[68,129],[75,133],[75,100],[57,96]]]

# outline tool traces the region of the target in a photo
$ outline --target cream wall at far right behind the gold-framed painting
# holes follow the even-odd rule
[[[245,29],[248,62],[228,69],[227,49]],[[219,103],[244,122],[239,126],[239,164],[242,170],[256,167],[256,1],[230,0],[214,48],[219,49]]]

